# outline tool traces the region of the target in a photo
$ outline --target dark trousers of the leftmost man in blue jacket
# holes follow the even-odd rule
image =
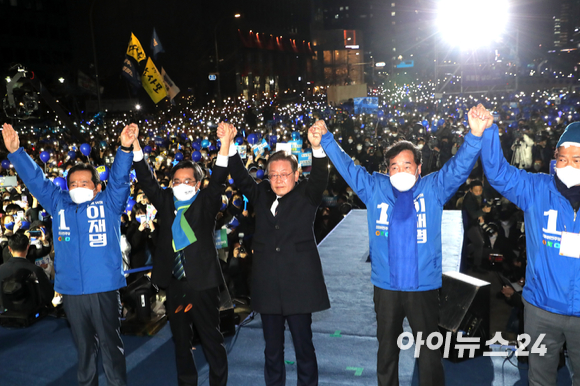
[[[98,386],[99,348],[103,350],[103,367],[109,386],[127,385],[119,291],[63,295],[63,306],[78,350],[79,385]]]

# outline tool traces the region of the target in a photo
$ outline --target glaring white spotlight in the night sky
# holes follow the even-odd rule
[[[462,49],[472,50],[497,40],[508,19],[505,0],[441,0],[437,26],[443,39]]]

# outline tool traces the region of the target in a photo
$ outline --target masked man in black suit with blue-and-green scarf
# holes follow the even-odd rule
[[[224,279],[214,230],[228,175],[227,147],[222,147],[225,154],[220,150],[209,184],[202,190],[203,171],[189,160],[173,167],[171,185],[162,189],[143,159],[139,141],[135,141],[134,148],[137,179],[157,209],[159,235],[151,279],[167,291],[166,308],[175,345],[178,384],[197,385],[198,372],[191,351],[195,330],[209,364],[210,386],[225,386],[228,362],[219,329],[219,286]]]

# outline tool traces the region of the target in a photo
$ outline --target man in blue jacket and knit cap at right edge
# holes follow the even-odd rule
[[[571,367],[580,371],[580,122],[570,124],[560,137],[556,175],[550,176],[509,165],[492,115],[483,106],[477,115],[491,127],[482,141],[485,175],[524,211],[528,264],[522,295],[524,331],[531,338],[530,385],[555,385],[564,342]]]

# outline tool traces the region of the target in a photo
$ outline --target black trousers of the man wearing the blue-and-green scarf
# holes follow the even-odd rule
[[[197,368],[191,351],[194,332],[209,364],[209,384],[225,386],[228,382],[228,358],[220,332],[219,304],[218,287],[196,291],[187,281],[173,279],[167,288],[167,315],[180,386],[197,385]]]

